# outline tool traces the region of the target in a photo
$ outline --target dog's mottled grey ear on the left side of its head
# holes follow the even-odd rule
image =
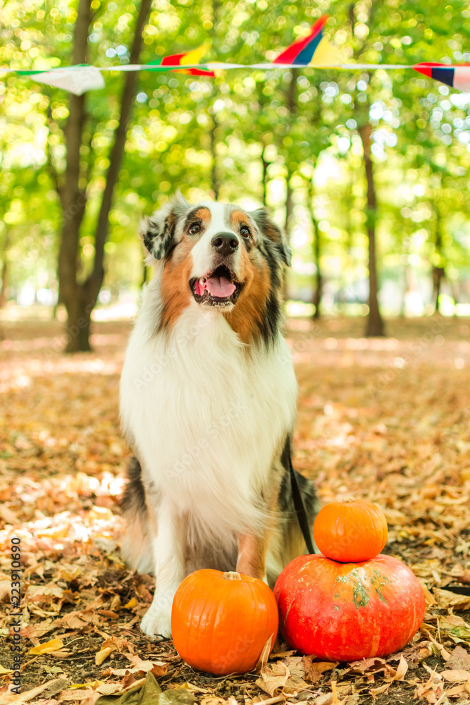
[[[177,191],[163,208],[140,221],[140,235],[155,259],[163,259],[175,244],[175,225],[188,206],[187,200]]]

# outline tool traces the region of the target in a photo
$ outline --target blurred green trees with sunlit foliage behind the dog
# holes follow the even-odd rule
[[[1,12],[12,68],[147,63],[208,39],[208,60],[269,61],[323,13],[347,61],[470,61],[460,0],[8,0]],[[360,314],[368,335],[390,315],[469,314],[469,95],[411,69],[104,77],[78,98],[1,76],[0,305],[65,305],[69,349],[87,350],[97,300],[135,307],[142,212],[180,188],[273,209],[294,255],[290,314]]]

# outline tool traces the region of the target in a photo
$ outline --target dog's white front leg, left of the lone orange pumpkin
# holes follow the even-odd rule
[[[171,637],[171,606],[183,580],[185,523],[174,508],[159,503],[149,508],[149,529],[154,557],[155,593],[140,624],[149,637]]]

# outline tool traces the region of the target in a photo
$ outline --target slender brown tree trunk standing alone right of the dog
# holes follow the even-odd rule
[[[369,238],[369,317],[367,319],[366,336],[384,336],[385,328],[378,307],[378,279],[376,269],[376,216],[377,199],[376,186],[373,179],[373,164],[371,160],[371,125],[366,122],[357,128],[364,150],[364,166],[367,181],[367,237]]]

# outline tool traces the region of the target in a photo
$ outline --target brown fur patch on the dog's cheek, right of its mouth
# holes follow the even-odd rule
[[[263,320],[270,288],[268,265],[256,249],[252,255],[243,250],[241,278],[245,284],[235,308],[223,315],[240,341],[250,344]]]

